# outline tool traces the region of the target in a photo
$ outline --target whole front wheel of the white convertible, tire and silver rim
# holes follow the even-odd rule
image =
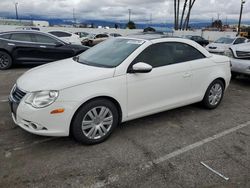
[[[96,99],[76,112],[71,134],[80,143],[98,144],[105,141],[119,122],[116,106],[109,100]]]

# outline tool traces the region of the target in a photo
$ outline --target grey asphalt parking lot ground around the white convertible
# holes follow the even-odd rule
[[[133,120],[86,146],[14,125],[7,97],[29,68],[0,72],[0,187],[250,187],[249,78],[232,80],[215,110],[194,104]]]

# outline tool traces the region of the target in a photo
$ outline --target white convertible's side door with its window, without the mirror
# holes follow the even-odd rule
[[[128,73],[128,118],[159,112],[190,103],[192,74],[190,63],[180,57],[181,43],[164,42],[146,48],[130,65],[150,64],[149,73]]]

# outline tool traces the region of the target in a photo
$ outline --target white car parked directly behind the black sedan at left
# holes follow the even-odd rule
[[[49,31],[48,33],[59,37],[61,40],[71,44],[81,44],[81,40],[78,35],[66,31]]]

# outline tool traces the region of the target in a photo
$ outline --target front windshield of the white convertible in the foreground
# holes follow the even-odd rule
[[[83,52],[77,61],[91,66],[116,67],[143,43],[136,39],[108,39]]]

